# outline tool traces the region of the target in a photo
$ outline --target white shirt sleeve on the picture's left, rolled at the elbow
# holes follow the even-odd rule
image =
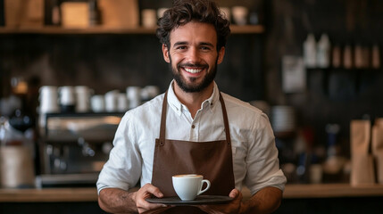
[[[140,178],[142,159],[135,144],[135,127],[129,120],[129,114],[125,114],[117,128],[109,160],[96,183],[98,193],[104,188],[129,190]]]

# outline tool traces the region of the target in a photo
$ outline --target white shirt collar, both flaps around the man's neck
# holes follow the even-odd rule
[[[174,94],[173,84],[174,84],[174,79],[171,81],[171,84],[168,88],[168,103],[174,111],[176,111],[179,115],[181,115],[182,109],[186,107],[184,104],[179,102],[179,99],[177,98],[176,94]],[[213,88],[212,88],[212,95],[202,103],[201,108],[210,107],[210,109],[212,110],[212,107],[215,105],[215,103],[219,101],[219,99],[220,99],[220,91],[218,89],[217,84],[214,81]]]

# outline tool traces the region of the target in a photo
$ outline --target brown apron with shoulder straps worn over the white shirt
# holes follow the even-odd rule
[[[179,174],[199,174],[211,181],[206,195],[226,195],[235,188],[228,115],[220,93],[226,140],[190,142],[165,139],[167,92],[162,103],[160,138],[155,139],[152,185],[164,197],[177,196],[171,177]],[[195,207],[175,207],[166,213],[204,213]]]

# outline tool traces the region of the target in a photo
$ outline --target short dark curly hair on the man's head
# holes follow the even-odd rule
[[[217,32],[217,50],[226,45],[230,34],[229,21],[217,4],[209,0],[175,0],[158,20],[156,35],[162,44],[169,47],[171,30],[190,21],[212,24]]]

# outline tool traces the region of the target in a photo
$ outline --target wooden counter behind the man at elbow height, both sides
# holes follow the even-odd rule
[[[383,196],[383,185],[286,185],[283,194],[287,199],[371,196]],[[97,191],[96,187],[0,189],[0,202],[97,202]]]

